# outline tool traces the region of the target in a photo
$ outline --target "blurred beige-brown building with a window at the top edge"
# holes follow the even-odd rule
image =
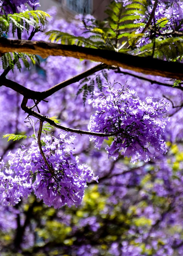
[[[111,0],[40,0],[41,10],[47,11],[52,6],[58,9],[58,16],[66,20],[74,18],[78,13],[90,13],[96,19],[104,20],[106,6]]]

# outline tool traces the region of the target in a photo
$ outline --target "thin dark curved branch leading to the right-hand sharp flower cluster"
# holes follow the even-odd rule
[[[124,130],[118,130],[116,132],[113,132],[113,133],[94,133],[94,132],[89,132],[89,131],[83,131],[83,130],[78,130],[78,129],[72,129],[70,127],[65,127],[65,126],[62,126],[62,125],[59,125],[57,123],[55,123],[53,120],[49,119],[48,117],[44,116],[44,115],[41,115],[41,114],[38,114],[37,112],[35,112],[34,110],[32,110],[31,108],[27,107],[27,101],[28,99],[27,98],[23,98],[23,101],[22,101],[22,104],[21,104],[21,108],[28,114],[28,115],[32,115],[42,121],[46,121],[47,123],[49,123],[50,125],[58,128],[58,129],[61,129],[61,130],[64,130],[66,132],[71,132],[71,133],[78,133],[78,134],[87,134],[87,135],[93,135],[93,136],[98,136],[98,137],[110,137],[110,136],[115,136],[117,135],[118,133],[123,133]],[[41,152],[41,150],[40,150]]]

